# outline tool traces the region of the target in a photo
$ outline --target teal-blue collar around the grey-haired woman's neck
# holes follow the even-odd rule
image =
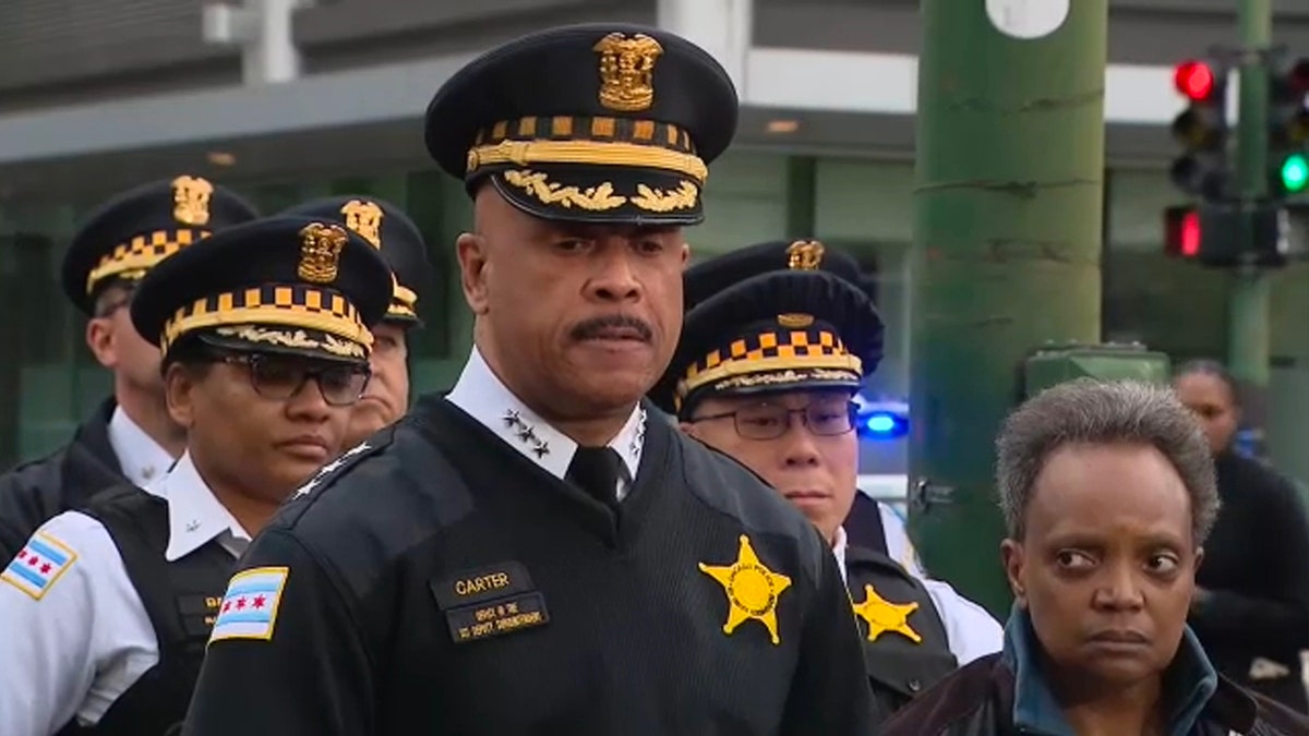
[[[1004,627],[1004,661],[1013,671],[1013,723],[1020,731],[1046,736],[1073,736],[1063,708],[1041,676],[1039,648],[1031,618],[1017,605]],[[1169,708],[1168,733],[1186,736],[1217,690],[1217,671],[1204,655],[1190,626],[1182,629],[1177,656],[1164,673],[1164,702]]]

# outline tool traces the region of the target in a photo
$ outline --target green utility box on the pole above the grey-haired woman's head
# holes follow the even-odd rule
[[[1166,354],[1140,343],[1042,346],[1022,361],[1020,402],[1050,386],[1090,377],[1102,381],[1168,384],[1172,361]]]

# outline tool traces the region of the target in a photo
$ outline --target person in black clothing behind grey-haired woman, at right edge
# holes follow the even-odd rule
[[[1309,648],[1309,520],[1295,485],[1233,449],[1241,403],[1221,364],[1183,364],[1177,396],[1204,430],[1223,513],[1196,575],[1191,627],[1233,680],[1309,711],[1300,651]]]

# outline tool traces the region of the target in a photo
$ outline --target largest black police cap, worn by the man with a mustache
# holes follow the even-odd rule
[[[511,41],[456,72],[427,109],[427,149],[469,194],[529,215],[692,225],[736,132],[737,93],[694,43],[624,24]]]

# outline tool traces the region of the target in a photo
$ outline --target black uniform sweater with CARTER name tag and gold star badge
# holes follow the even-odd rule
[[[274,623],[220,616],[185,733],[869,733],[831,550],[656,415],[615,519],[423,399],[250,546]]]

